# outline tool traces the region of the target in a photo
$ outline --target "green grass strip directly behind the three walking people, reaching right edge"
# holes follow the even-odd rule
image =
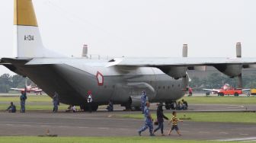
[[[171,113],[165,113],[165,116],[171,118]],[[122,118],[144,119],[141,114],[120,115]],[[156,118],[152,113],[153,119]],[[189,119],[194,122],[243,122],[256,123],[256,113],[178,113],[178,118]]]

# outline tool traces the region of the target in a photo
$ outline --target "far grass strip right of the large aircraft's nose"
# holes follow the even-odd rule
[[[188,103],[197,104],[256,104],[256,97],[184,97]]]

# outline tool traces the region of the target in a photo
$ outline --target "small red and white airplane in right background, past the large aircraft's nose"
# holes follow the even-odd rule
[[[238,97],[240,94],[243,94],[244,91],[250,91],[250,89],[234,88],[229,84],[224,84],[221,89],[203,89],[203,91],[211,91],[213,94],[218,94],[222,97],[224,95],[234,95]]]

